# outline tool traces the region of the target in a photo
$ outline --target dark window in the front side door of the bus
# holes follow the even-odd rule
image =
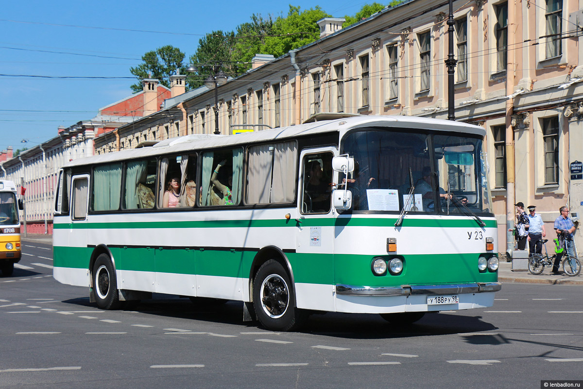
[[[328,213],[332,192],[332,153],[304,156],[302,213]]]

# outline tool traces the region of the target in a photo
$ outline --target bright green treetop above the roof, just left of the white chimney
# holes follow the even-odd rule
[[[300,7],[290,5],[287,17],[279,16],[273,22],[273,35],[277,36],[266,37],[259,52],[279,57],[294,48],[314,42],[320,35],[316,22],[330,16],[319,6],[300,11]]]

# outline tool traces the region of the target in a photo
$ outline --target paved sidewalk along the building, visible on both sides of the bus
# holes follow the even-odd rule
[[[52,235],[44,234],[28,234],[27,237],[22,236],[22,240],[52,244]],[[540,275],[533,275],[527,271],[512,271],[512,262],[500,261],[500,268],[498,268],[498,281],[500,282],[517,282],[517,283],[546,283],[550,285],[582,285],[583,286],[583,271],[574,276],[566,275],[552,275],[551,269],[545,268]]]

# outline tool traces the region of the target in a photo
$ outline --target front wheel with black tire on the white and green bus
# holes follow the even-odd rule
[[[290,278],[275,260],[261,265],[253,279],[253,306],[259,323],[272,331],[296,331],[308,317],[296,308]]]

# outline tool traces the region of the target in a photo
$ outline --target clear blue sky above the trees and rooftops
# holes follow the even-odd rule
[[[31,147],[57,136],[60,125],[89,120],[100,107],[129,96],[131,66],[146,51],[173,45],[186,54],[213,30],[234,30],[252,13],[287,15],[289,4],[319,5],[334,17],[373,1],[278,2],[10,1],[0,13],[0,150]],[[59,26],[59,24],[61,26]],[[62,26],[62,25],[69,25]],[[86,28],[86,27],[101,27]],[[166,31],[174,34],[125,30]],[[104,77],[62,79],[52,77]],[[27,139],[28,144],[21,143]]]

